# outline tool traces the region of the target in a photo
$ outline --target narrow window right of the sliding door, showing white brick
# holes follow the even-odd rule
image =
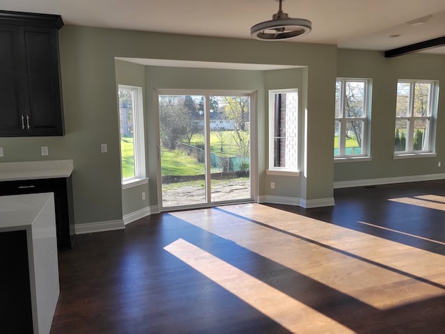
[[[298,171],[298,90],[269,91],[269,170]]]

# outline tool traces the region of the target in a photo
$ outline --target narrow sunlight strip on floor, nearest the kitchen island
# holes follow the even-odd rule
[[[354,333],[184,239],[164,249],[293,333]]]

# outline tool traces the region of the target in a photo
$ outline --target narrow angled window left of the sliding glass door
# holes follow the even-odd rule
[[[142,88],[119,85],[122,183],[145,179],[145,143]]]

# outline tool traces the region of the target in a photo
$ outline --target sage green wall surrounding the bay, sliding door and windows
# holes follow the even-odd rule
[[[296,74],[301,84],[301,134],[305,149],[302,173],[280,181],[270,193],[266,186],[267,116],[266,96],[275,74],[261,71],[191,70],[186,68],[145,67],[147,113],[147,163],[149,196],[140,200],[141,189],[125,196],[122,210],[118,106],[116,100],[115,57],[156,58],[224,63],[254,63],[302,66]],[[146,33],[85,26],[60,29],[60,64],[63,84],[66,135],[51,138],[1,138],[5,157],[0,162],[42,160],[40,146],[49,147],[44,159],[73,159],[74,214],[76,224],[118,221],[138,207],[157,205],[156,194],[156,114],[153,88],[212,88],[257,90],[259,196],[295,196],[305,201],[329,199],[333,184],[343,180],[441,173],[437,160],[443,148],[442,113],[439,101],[437,158],[392,160],[394,141],[395,84],[403,79],[438,79],[445,83],[444,56],[414,54],[386,59],[380,52],[339,50],[335,45],[310,45],[294,42],[262,42],[231,38]],[[140,67],[137,75],[143,75]],[[289,70],[294,71],[294,70]],[[140,73],[139,73],[140,72]],[[240,74],[241,73],[241,74]],[[239,74],[239,75],[238,75]],[[341,77],[373,79],[372,161],[335,164],[332,161],[334,81]],[[293,80],[293,72],[283,80]],[[218,78],[218,80],[216,80]],[[210,86],[204,83],[211,83]],[[292,83],[292,82],[291,82]],[[150,102],[151,100],[151,102]],[[303,126],[304,124],[302,124]],[[108,144],[108,153],[100,144]],[[442,165],[445,166],[445,165]],[[268,180],[268,179],[267,179]],[[289,182],[288,182],[289,181]],[[134,198],[134,199],[132,199]],[[127,212],[128,211],[128,212]]]

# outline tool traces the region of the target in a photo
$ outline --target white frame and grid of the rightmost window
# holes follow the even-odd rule
[[[428,95],[428,116],[414,116],[414,94],[415,86],[418,83],[431,84],[431,89]],[[435,157],[435,141],[436,141],[436,123],[437,123],[437,106],[439,100],[439,81],[424,80],[424,79],[398,79],[396,84],[396,97],[398,84],[410,84],[410,96],[408,102],[408,116],[397,116],[397,109],[394,116],[394,132],[396,131],[397,120],[407,120],[407,135],[405,150],[396,151],[394,145],[394,159],[403,159],[405,157]],[[397,106],[397,102],[396,102]],[[428,129],[423,134],[428,135],[427,150],[414,150],[414,122],[420,119],[427,119]]]

